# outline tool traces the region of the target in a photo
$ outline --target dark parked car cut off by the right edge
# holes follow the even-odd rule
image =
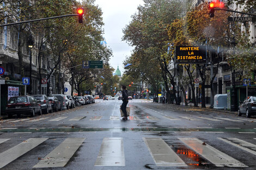
[[[246,114],[246,117],[256,114],[256,96],[248,96],[243,102],[240,102],[238,116]]]

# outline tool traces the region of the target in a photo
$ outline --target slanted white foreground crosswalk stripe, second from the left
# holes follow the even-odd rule
[[[64,167],[86,138],[69,137],[33,168]]]

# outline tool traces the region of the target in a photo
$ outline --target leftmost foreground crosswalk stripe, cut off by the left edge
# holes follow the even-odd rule
[[[0,168],[8,165],[8,163],[19,158],[21,155],[27,153],[29,150],[35,148],[40,143],[46,141],[48,138],[29,138],[15,147],[6,150],[0,154]]]

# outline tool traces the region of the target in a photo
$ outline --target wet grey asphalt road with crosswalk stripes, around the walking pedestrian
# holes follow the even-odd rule
[[[256,119],[152,100],[3,119],[1,169],[256,169]]]

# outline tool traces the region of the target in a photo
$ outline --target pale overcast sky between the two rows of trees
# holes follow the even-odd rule
[[[121,41],[123,37],[122,29],[131,21],[131,15],[137,12],[138,5],[143,5],[143,0],[96,0],[103,12],[103,22],[105,26],[104,37],[107,41],[107,47],[112,49],[113,56],[109,63],[116,70],[119,65],[121,74],[124,73],[123,61],[126,56],[131,55],[132,47],[127,45],[125,41]]]

